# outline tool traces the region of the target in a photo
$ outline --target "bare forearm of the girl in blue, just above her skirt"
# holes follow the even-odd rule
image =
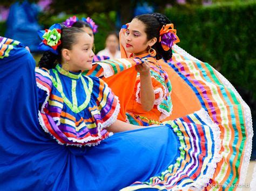
[[[106,129],[107,131],[117,133],[122,131],[130,131],[130,130],[134,130],[142,127],[143,126],[128,124],[127,122],[120,121],[117,119],[115,122],[113,122],[111,126],[107,127]]]

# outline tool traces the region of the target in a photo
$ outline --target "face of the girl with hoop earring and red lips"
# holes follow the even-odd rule
[[[134,56],[146,53],[149,46],[152,46],[152,40],[147,40],[145,32],[146,26],[142,21],[133,19],[125,32],[125,50],[133,53]]]

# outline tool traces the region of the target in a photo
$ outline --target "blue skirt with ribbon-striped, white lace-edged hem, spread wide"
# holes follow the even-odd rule
[[[42,94],[31,54],[3,37],[0,47],[0,190],[170,190],[208,184],[220,160],[220,132],[204,110],[166,125],[115,133],[97,146],[60,145],[38,121]]]

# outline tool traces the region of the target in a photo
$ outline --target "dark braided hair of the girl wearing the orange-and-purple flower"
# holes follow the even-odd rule
[[[165,51],[159,42],[160,30],[163,25],[170,24],[171,21],[161,13],[152,13],[145,15],[138,15],[133,19],[138,19],[143,22],[146,26],[145,32],[147,34],[147,40],[150,40],[154,37],[157,38],[157,42],[152,46],[152,49],[156,50],[156,59],[159,60],[164,58],[165,60],[169,60],[172,58],[172,49]]]

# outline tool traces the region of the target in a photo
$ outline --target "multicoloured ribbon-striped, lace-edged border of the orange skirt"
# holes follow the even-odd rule
[[[252,118],[248,105],[231,83],[209,64],[174,45],[169,65],[196,92],[201,106],[221,131],[221,161],[207,190],[241,185],[245,181],[252,148]]]

